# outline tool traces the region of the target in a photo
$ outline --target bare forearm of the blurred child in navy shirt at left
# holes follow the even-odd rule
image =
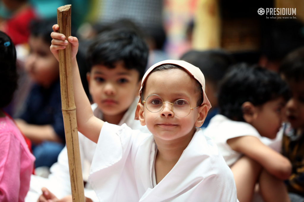
[[[22,133],[36,144],[42,141],[63,142],[52,125],[28,124],[22,119],[16,119],[15,122]]]

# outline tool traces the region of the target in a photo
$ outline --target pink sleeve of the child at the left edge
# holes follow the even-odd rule
[[[11,133],[0,134],[0,201],[19,200],[20,141]]]

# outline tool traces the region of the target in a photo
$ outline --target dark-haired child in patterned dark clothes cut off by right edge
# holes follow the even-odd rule
[[[292,92],[286,104],[289,124],[283,134],[282,154],[292,163],[292,174],[285,181],[290,199],[304,201],[304,48],[299,48],[282,61],[282,77],[287,81]],[[294,193],[294,194],[291,194]],[[293,200],[295,194],[302,199]]]

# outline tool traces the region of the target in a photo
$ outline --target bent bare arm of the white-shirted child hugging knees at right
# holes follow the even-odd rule
[[[257,161],[275,177],[286,180],[291,174],[291,163],[289,160],[263,144],[257,137],[241,136],[227,140],[227,144],[237,152]]]

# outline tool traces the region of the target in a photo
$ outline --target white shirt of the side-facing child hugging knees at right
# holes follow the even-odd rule
[[[204,130],[204,134],[211,137],[216,142],[220,153],[223,155],[226,164],[229,167],[231,167],[243,154],[231,149],[229,144],[227,144],[228,139],[247,135],[254,136],[276,151],[279,150],[278,145],[280,146],[282,139],[280,132],[275,140],[262,137],[252,125],[243,121],[233,121],[221,114],[215,115],[210,120],[209,125]]]

